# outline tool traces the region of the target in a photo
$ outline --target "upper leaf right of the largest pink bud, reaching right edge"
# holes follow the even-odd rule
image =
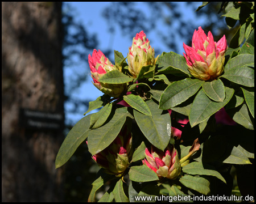
[[[234,69],[237,67],[241,68],[245,65],[246,66],[254,65],[254,54],[239,54],[238,56],[233,57],[232,59],[230,59],[228,63],[226,63],[224,71],[226,73],[230,69]]]

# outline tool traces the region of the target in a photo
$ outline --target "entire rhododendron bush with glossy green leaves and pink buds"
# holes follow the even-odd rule
[[[198,27],[191,46],[180,42],[183,56],[155,56],[146,33],[138,31],[127,56],[114,51],[114,63],[100,49],[89,54],[102,96],[89,103],[56,157],[59,168],[87,143],[101,167],[88,201],[96,201],[103,185],[109,188],[101,202],[230,196],[232,167],[242,196],[254,196],[248,190],[253,179],[246,179],[254,165],[254,2],[246,5],[246,19],[239,19],[242,4],[225,5],[228,26],[240,20],[230,42]]]

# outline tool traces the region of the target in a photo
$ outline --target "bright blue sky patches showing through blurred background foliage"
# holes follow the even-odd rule
[[[96,33],[98,37],[98,47],[95,49],[100,50],[106,50],[107,48],[110,48],[113,50],[118,50],[123,54],[124,57],[127,56],[129,46],[131,46],[131,43],[133,41],[132,38],[129,36],[123,36],[120,29],[115,29],[114,35],[110,35],[108,32],[108,22],[104,17],[102,16],[102,11],[106,6],[110,4],[110,2],[67,2],[69,5],[71,5],[75,9],[75,21],[79,21],[82,24],[85,25],[86,30],[92,34]],[[201,5],[201,2],[197,2],[198,6]],[[138,2],[137,6],[141,6],[142,2]],[[180,10],[183,11],[184,18],[188,19],[188,23],[191,19],[195,19],[195,11],[190,11],[185,8],[184,2],[180,2]],[[200,26],[200,22],[202,19],[197,19],[198,25]],[[157,24],[158,28],[163,27],[162,22],[158,22]],[[196,29],[196,28],[195,28]],[[159,29],[161,30],[161,29]],[[138,31],[140,32],[140,31]],[[134,36],[136,33],[134,33]],[[148,40],[150,40],[150,45],[155,48],[159,49],[161,54],[162,52],[170,52],[172,50],[169,50],[166,45],[164,45],[164,42],[157,41],[158,39],[158,33],[151,31],[150,33],[146,33]],[[183,52],[183,39],[180,39],[179,44],[177,44],[178,52],[177,54],[182,54]],[[93,50],[91,50],[90,54],[92,54]],[[114,58],[113,56],[106,56],[109,58]],[[85,75],[89,75],[85,82],[81,85],[79,89],[74,91],[72,94],[76,98],[93,101],[97,99],[97,97],[102,95],[102,92],[99,91],[91,82],[90,78],[90,71],[87,67],[81,66],[81,67],[74,67],[72,69],[69,69],[69,71],[66,71],[64,73],[64,78],[68,77],[70,74],[72,74],[72,71],[76,71],[77,73],[80,72],[80,69],[86,69]],[[65,108],[68,109],[69,104],[65,104]],[[71,118],[73,121],[73,125],[76,124],[77,121],[79,121],[83,117],[83,113],[87,110],[81,109],[81,113],[76,114],[66,114],[66,118]],[[93,112],[91,112],[93,113]]]

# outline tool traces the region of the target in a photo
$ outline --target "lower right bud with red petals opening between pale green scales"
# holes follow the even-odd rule
[[[164,151],[151,146],[151,152],[146,148],[145,156],[146,159],[142,161],[143,164],[151,168],[158,177],[176,179],[180,175],[180,162],[173,145],[167,146]]]

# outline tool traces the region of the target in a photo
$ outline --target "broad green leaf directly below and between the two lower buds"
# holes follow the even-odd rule
[[[156,181],[158,175],[146,165],[134,166],[130,168],[129,178],[131,181],[148,182]]]

